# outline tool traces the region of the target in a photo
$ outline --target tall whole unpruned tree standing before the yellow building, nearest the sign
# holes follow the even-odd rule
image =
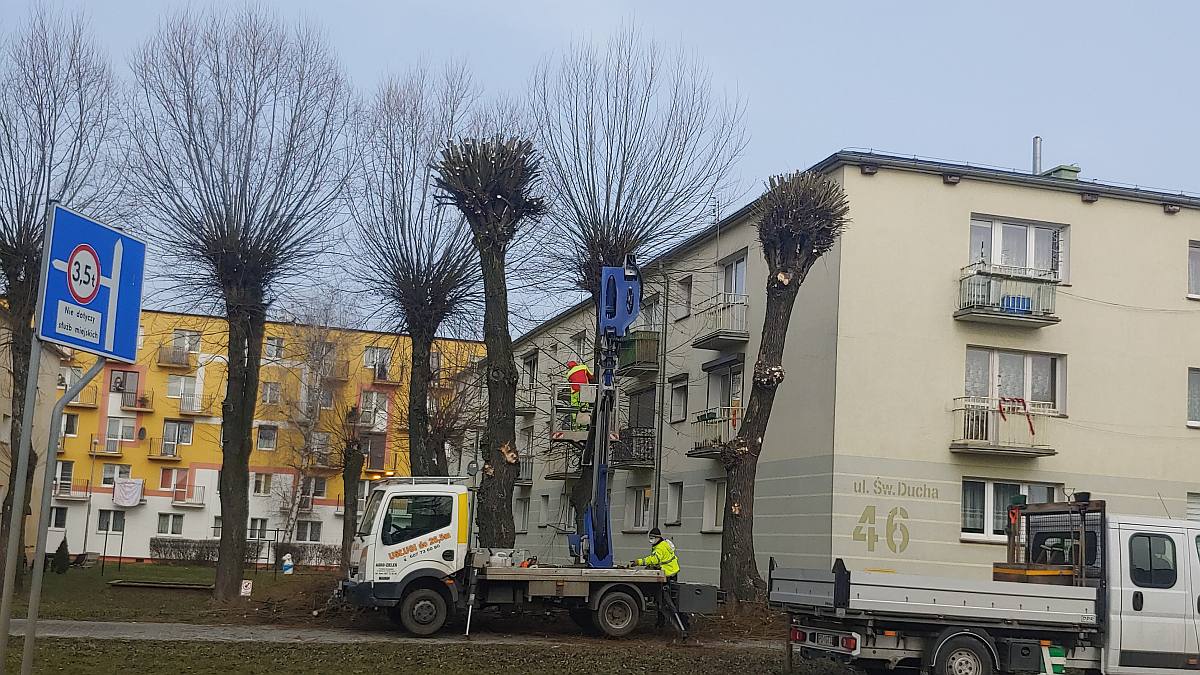
[[[324,38],[256,10],[164,20],[132,58],[130,179],[175,291],[228,322],[221,558],[235,598],[268,310],[319,262],[349,172],[350,85]]]

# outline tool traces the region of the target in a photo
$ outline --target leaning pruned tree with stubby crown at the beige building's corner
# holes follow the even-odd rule
[[[800,286],[847,223],[850,203],[841,185],[812,172],[770,178],[755,204],[758,241],[767,261],[767,305],[750,401],[737,436],[721,448],[726,480],[721,532],[721,587],[739,601],[762,599],[766,591],[754,552],[754,491],[762,440],[775,392],[784,382],[784,347]]]

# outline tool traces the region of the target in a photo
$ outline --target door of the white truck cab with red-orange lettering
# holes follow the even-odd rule
[[[445,492],[389,495],[383,504],[379,545],[373,546],[376,581],[401,581],[418,568],[445,575],[457,572],[463,561],[455,540],[456,521],[467,514],[457,513],[456,502],[455,495]]]

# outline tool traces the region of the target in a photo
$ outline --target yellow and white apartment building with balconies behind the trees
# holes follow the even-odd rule
[[[143,312],[137,363],[110,363],[66,408],[50,550],[65,537],[72,554],[138,560],[154,557],[155,539],[220,537],[227,336],[220,317]],[[436,345],[431,400],[479,350]],[[338,544],[346,513],[338,453],[347,442],[361,443],[366,455],[360,496],[372,479],[408,474],[409,354],[403,335],[268,323],[250,538]],[[92,363],[66,353],[59,389]]]

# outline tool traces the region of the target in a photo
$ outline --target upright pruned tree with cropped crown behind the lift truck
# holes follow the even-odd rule
[[[470,225],[484,279],[487,348],[487,426],[475,522],[484,546],[516,542],[512,489],[520,473],[516,447],[517,366],[509,331],[508,252],[523,228],[545,213],[541,169],[533,142],[502,135],[451,141],[436,165],[439,201]]]

